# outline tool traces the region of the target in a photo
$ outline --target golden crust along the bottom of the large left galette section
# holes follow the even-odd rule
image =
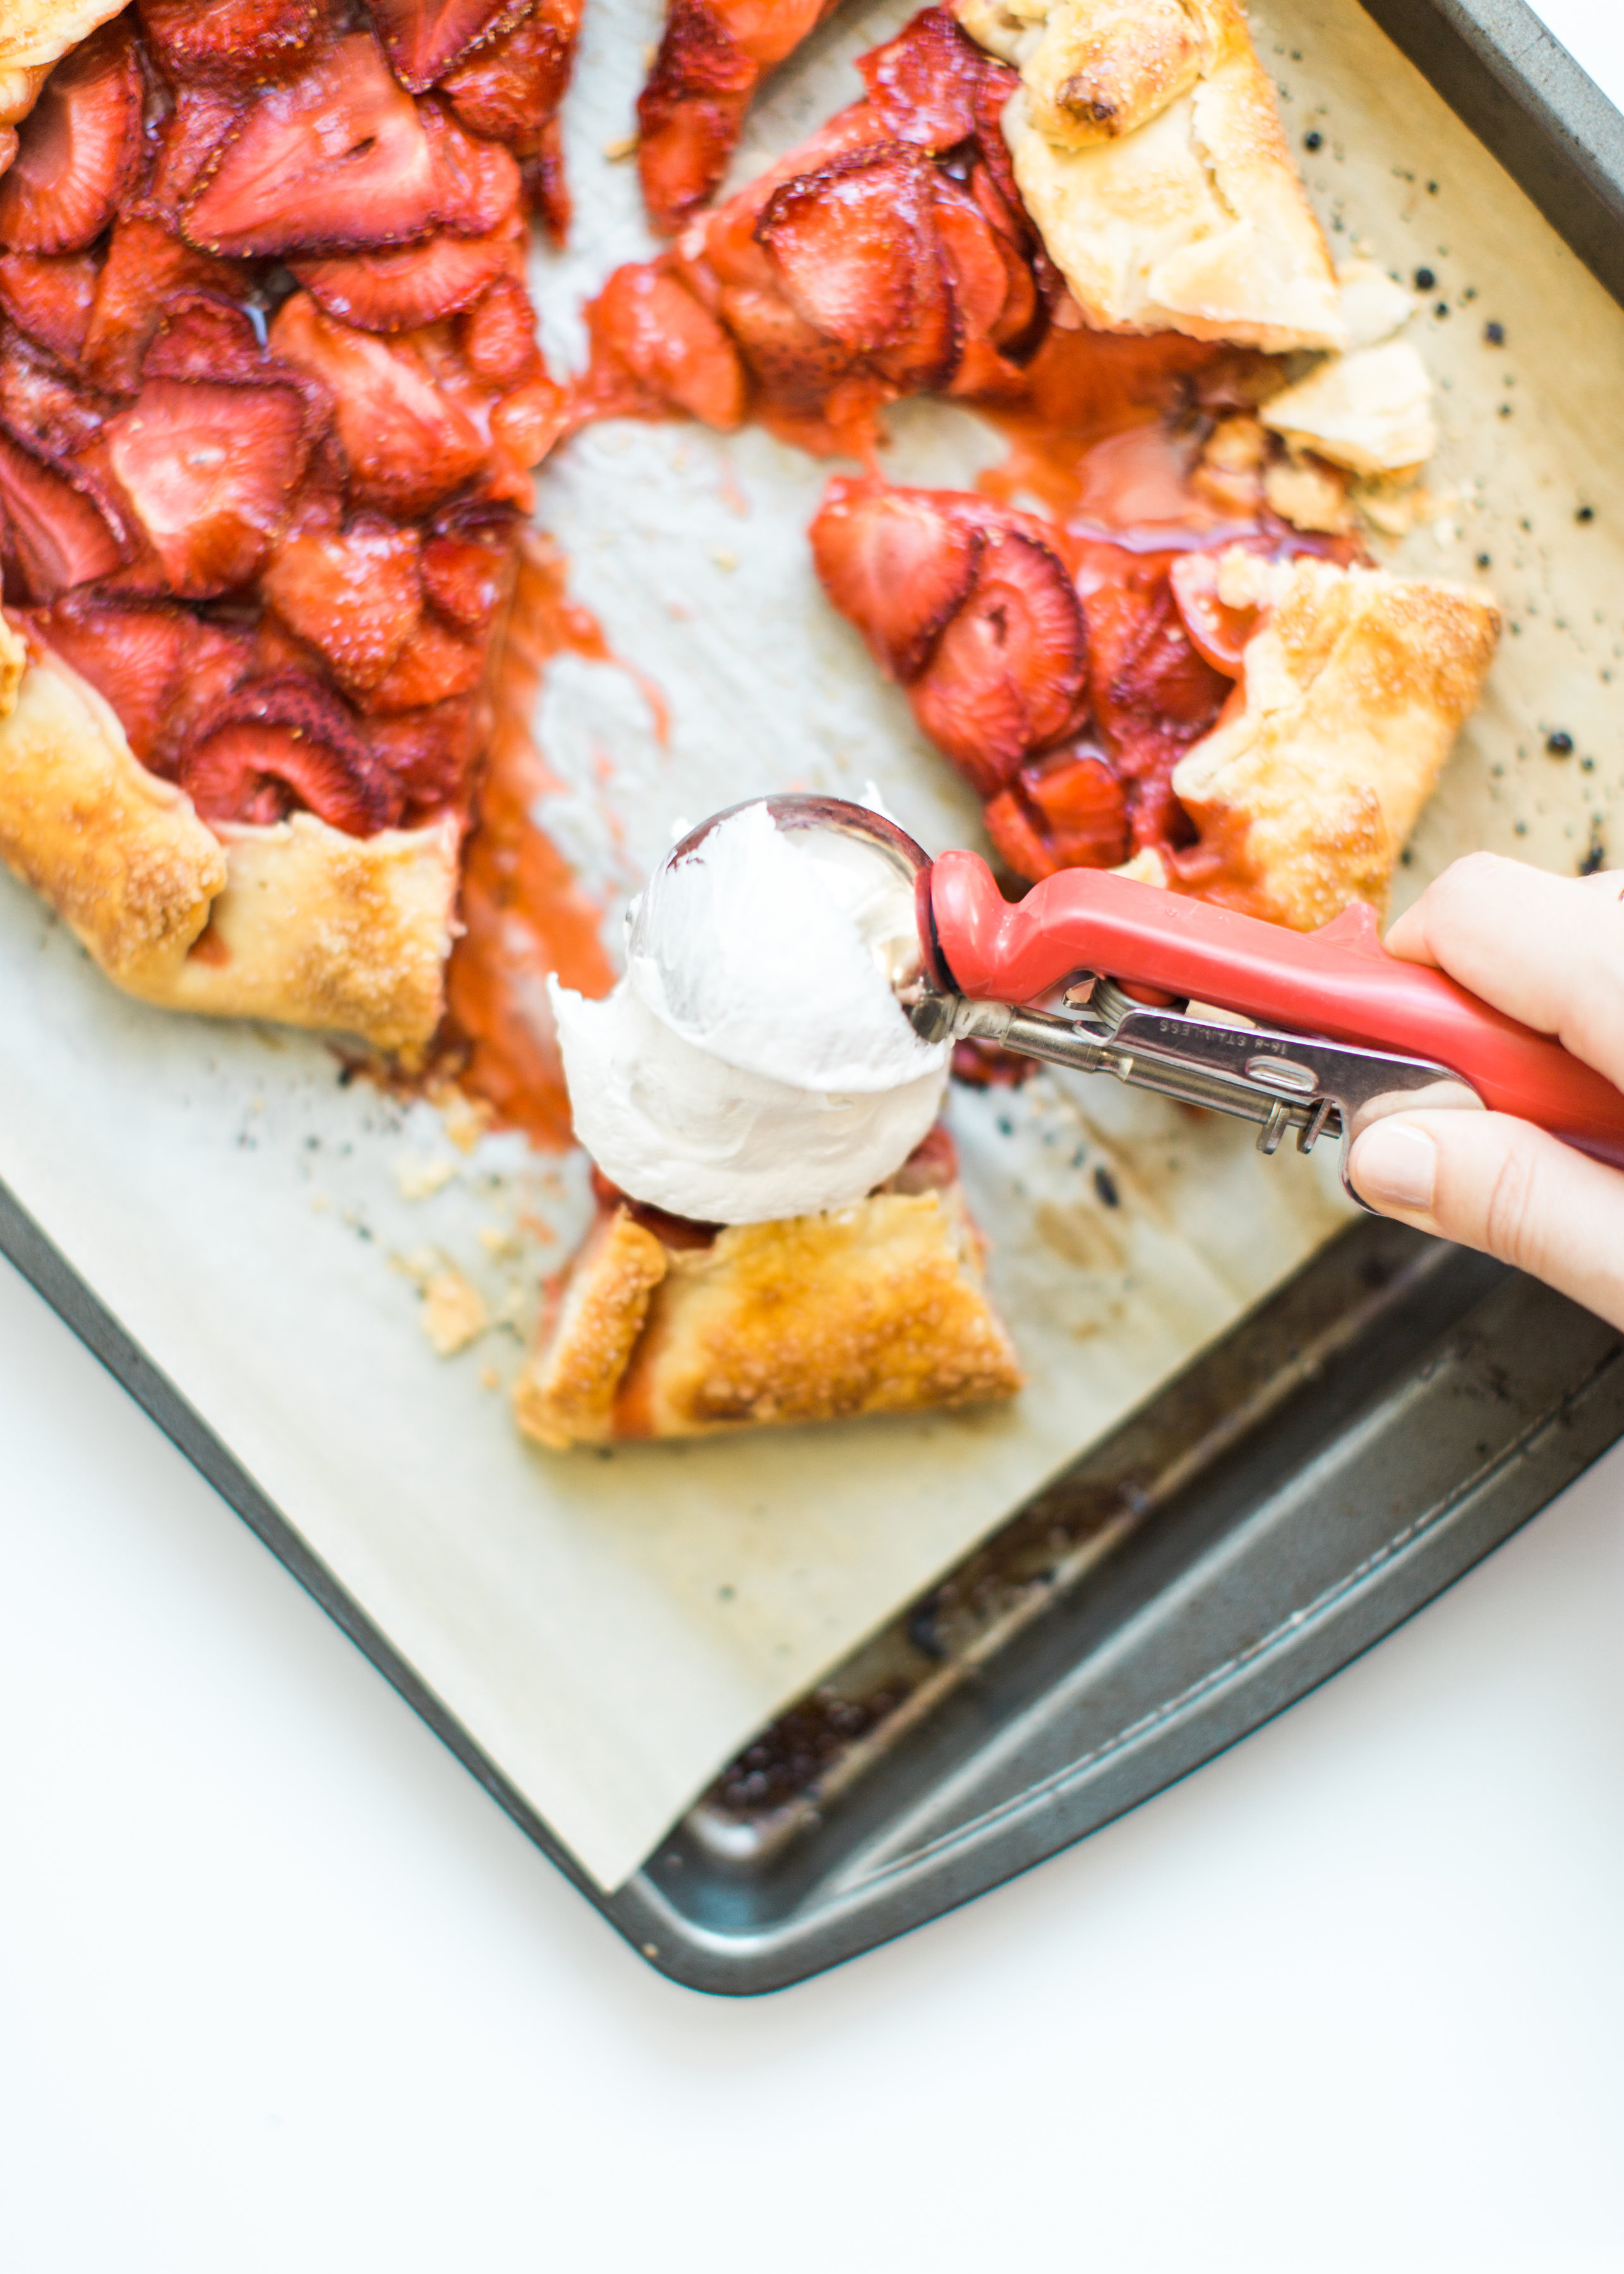
[[[111,705],[0,621],[0,857],[127,994],[423,1048],[444,1012],[459,828],[202,823]],[[5,703],[5,687],[11,700]]]

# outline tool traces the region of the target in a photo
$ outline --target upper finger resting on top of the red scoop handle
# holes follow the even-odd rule
[[[1435,964],[1497,1010],[1624,1087],[1624,875],[1547,875],[1469,853],[1387,932],[1387,951]]]

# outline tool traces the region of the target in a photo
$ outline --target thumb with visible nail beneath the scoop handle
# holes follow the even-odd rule
[[[1508,1114],[1392,1114],[1349,1173],[1383,1217],[1483,1248],[1624,1328],[1624,1173]]]

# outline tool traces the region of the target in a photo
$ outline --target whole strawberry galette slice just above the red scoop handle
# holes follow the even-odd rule
[[[1017,875],[1130,864],[1299,930],[1385,907],[1499,641],[1485,594],[1283,525],[1146,550],[839,478],[812,550]]]

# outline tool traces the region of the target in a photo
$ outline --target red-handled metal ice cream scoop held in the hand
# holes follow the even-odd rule
[[[671,850],[632,923],[632,971],[657,973],[648,996],[657,987],[676,1028],[687,1032],[682,1021],[694,1021],[705,1048],[735,1067],[782,1078],[803,1048],[792,1035],[805,1032],[805,989],[821,985],[805,957],[789,955],[796,982],[778,994],[773,896],[751,878],[739,880],[737,907],[748,901],[748,923],[728,957],[701,944],[682,864],[703,862],[721,832],[746,844],[751,812],[760,814],[748,823],[751,841],[760,844],[769,823],[778,844],[839,878],[844,905],[862,912],[853,921],[869,969],[885,976],[928,1046],[973,1037],[1112,1073],[1260,1123],[1265,1153],[1287,1130],[1303,1153],[1319,1137],[1340,1137],[1344,1182],[1351,1142],[1372,1119],[1437,1105],[1517,1114],[1624,1167],[1624,1096],[1442,971],[1387,955],[1365,905],[1319,932],[1287,932],[1099,869],[1062,871],[1010,903],[978,855],[933,862],[896,823],[839,798],[762,798],[703,823]],[[908,896],[912,930],[903,921]],[[705,921],[723,921],[719,903]],[[757,941],[757,973],[739,1007],[728,989],[748,939]],[[844,985],[844,969],[830,966],[814,1021],[819,1064],[862,1067],[876,1082],[894,1064],[903,1080],[901,1055],[892,1060],[889,1044],[880,1051],[873,1039],[878,1026],[860,1048],[842,1041]],[[1153,991],[1162,1007],[1128,989]],[[1192,1001],[1249,1023],[1192,1016]],[[776,1005],[782,1032],[773,1032]],[[794,1142],[787,1123],[780,1137]]]

